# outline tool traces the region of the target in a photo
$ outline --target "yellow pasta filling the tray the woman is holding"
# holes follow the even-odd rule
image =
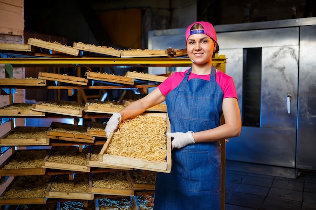
[[[127,119],[113,133],[107,154],[166,161],[166,120],[160,116],[138,115]]]

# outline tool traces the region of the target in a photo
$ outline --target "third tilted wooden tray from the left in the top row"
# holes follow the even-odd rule
[[[94,52],[98,54],[104,54],[104,55],[111,55],[115,57],[121,56],[121,50],[114,49],[112,47],[105,47],[105,46],[95,46],[91,44],[83,44],[81,42],[76,43],[74,42],[73,48],[87,51],[87,52]]]

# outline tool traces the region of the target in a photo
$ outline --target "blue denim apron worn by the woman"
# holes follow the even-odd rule
[[[199,132],[220,125],[223,91],[212,66],[210,81],[182,82],[166,96],[171,132]],[[155,210],[221,209],[220,142],[190,144],[172,151],[171,173],[158,173]]]

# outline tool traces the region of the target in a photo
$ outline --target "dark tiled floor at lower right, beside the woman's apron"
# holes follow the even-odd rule
[[[226,161],[225,210],[316,209],[315,171],[299,171],[289,178],[291,171],[273,175],[272,168]]]

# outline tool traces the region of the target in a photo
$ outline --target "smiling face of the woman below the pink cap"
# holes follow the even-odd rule
[[[210,62],[216,43],[206,34],[192,34],[188,37],[187,52],[195,64]]]

